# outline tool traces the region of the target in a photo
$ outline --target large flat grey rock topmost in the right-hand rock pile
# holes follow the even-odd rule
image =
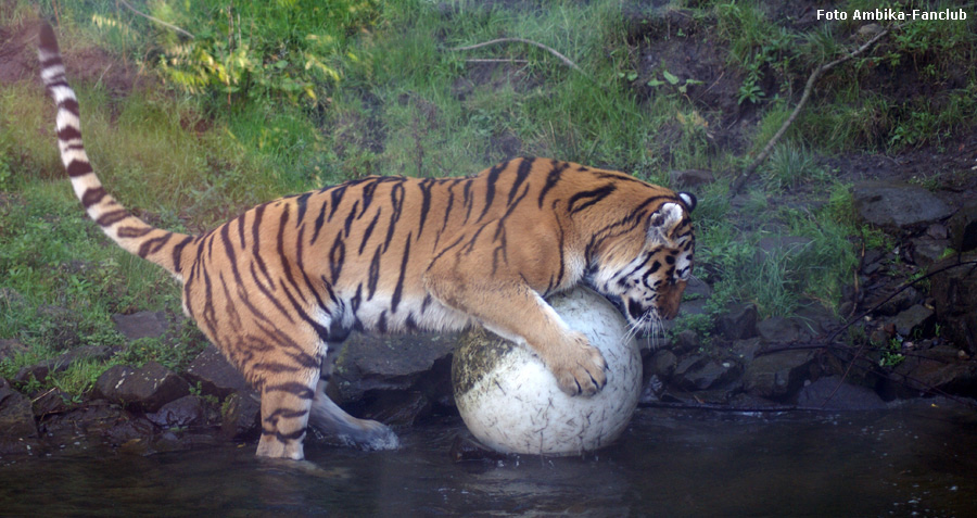
[[[928,190],[906,184],[864,181],[852,188],[852,195],[862,220],[889,230],[912,230],[953,213]]]

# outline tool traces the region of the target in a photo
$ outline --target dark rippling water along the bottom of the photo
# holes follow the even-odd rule
[[[396,452],[309,444],[307,463],[253,444],[18,459],[0,467],[0,515],[977,516],[973,409],[639,409],[597,455],[456,464],[462,430],[405,430]]]

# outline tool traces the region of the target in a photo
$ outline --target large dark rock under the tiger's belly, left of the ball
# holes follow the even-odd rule
[[[439,359],[451,355],[457,334],[353,334],[337,361],[333,379],[343,402],[368,390],[409,390]]]

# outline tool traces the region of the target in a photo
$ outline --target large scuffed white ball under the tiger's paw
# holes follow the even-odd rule
[[[452,365],[455,403],[471,433],[493,450],[591,452],[617,439],[637,405],[642,357],[618,309],[586,288],[554,295],[549,303],[604,354],[607,386],[592,397],[569,396],[528,348],[482,329],[467,332]]]

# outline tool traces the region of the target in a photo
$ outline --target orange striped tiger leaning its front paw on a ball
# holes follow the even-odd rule
[[[54,29],[41,78],[61,159],[88,216],[182,285],[182,309],[261,394],[257,455],[303,459],[309,427],[363,450],[388,426],[326,395],[353,332],[482,326],[532,351],[571,396],[607,364],[546,302],[580,285],[618,301],[635,330],[675,316],[693,268],[696,197],[631,175],[520,157],[474,176],[370,176],[259,204],[205,233],[156,228],[102,186]]]

